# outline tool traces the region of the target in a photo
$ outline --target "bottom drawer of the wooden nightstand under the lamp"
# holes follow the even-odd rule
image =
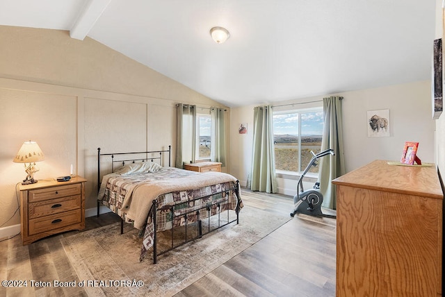
[[[70,226],[74,223],[81,223],[81,210],[70,210],[60,214],[51,214],[47,217],[40,217],[29,220],[28,235],[47,232],[49,230]]]

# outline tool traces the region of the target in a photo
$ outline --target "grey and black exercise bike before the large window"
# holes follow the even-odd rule
[[[320,189],[320,183],[315,183],[314,189],[306,190],[303,189],[303,178],[305,177],[305,174],[309,169],[311,169],[312,166],[316,166],[317,159],[322,158],[325,155],[334,155],[334,150],[331,148],[328,148],[326,151],[322,151],[321,153],[315,154],[313,151],[311,151],[313,157],[309,161],[309,164],[307,164],[307,167],[305,171],[303,171],[302,175],[300,176],[300,179],[298,179],[297,184],[297,191],[298,193],[293,196],[293,205],[295,209],[293,212],[291,212],[291,217],[295,216],[297,212],[301,214],[308,214],[310,216],[316,216],[316,217],[328,217],[328,218],[336,218],[334,215],[330,214],[323,214],[321,212],[321,203],[323,203],[323,195],[319,191]]]

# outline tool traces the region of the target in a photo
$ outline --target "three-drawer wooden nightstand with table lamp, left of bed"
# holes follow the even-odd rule
[[[20,185],[23,244],[85,228],[85,183],[85,178],[75,177]]]

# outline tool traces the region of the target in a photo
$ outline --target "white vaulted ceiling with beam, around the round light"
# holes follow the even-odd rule
[[[429,80],[435,2],[0,0],[0,24],[91,37],[234,107]]]

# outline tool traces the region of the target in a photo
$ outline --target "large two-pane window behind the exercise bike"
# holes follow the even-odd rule
[[[274,112],[275,169],[302,172],[321,151],[323,108]],[[318,166],[309,172],[318,173]]]

